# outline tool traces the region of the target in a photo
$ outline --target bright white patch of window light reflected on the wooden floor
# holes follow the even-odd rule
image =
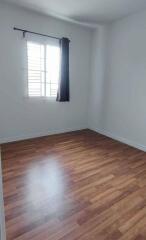
[[[63,170],[56,159],[49,159],[48,163],[32,165],[27,173],[27,202],[31,203],[34,210],[39,210],[45,204],[52,212],[63,208],[66,182],[63,178]],[[43,198],[42,198],[43,195]],[[42,202],[43,199],[43,202]],[[52,205],[53,203],[53,205]]]

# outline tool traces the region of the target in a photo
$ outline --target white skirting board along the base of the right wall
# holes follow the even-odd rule
[[[101,129],[97,129],[97,128],[90,128],[90,129],[95,131],[95,132],[97,132],[97,133],[99,133],[99,134],[102,134],[104,136],[107,136],[109,138],[112,138],[114,140],[117,140],[117,141],[125,143],[125,144],[127,144],[127,145],[129,145],[131,147],[134,147],[134,148],[137,148],[137,149],[139,149],[141,151],[146,152],[146,146],[138,144],[135,141],[132,141],[132,140],[129,140],[129,139],[126,139],[126,138],[123,138],[123,137],[116,136],[116,135],[114,135],[114,134],[112,134],[112,133],[110,133],[110,132],[108,132],[106,130],[101,130]]]

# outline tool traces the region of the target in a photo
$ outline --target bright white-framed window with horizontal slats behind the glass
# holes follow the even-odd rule
[[[59,45],[27,42],[28,96],[56,97],[60,71]]]

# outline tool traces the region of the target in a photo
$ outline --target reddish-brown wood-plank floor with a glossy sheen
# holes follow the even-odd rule
[[[146,153],[85,130],[2,159],[7,240],[146,240]]]

